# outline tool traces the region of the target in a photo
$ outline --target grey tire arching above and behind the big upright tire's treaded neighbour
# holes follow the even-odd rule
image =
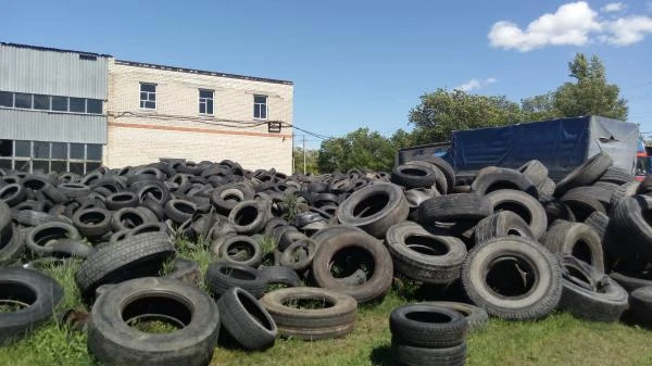
[[[534,197],[513,189],[499,189],[485,195],[493,212],[512,211],[523,218],[530,227],[536,240],[539,240],[548,228],[546,209]]]

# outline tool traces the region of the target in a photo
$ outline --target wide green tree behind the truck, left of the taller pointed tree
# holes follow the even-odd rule
[[[509,125],[521,122],[523,114],[518,103],[504,96],[477,96],[440,88],[423,94],[409,118],[417,129],[415,139],[438,142],[447,141],[453,130]]]

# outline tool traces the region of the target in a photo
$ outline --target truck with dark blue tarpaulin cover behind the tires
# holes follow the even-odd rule
[[[448,142],[401,149],[396,163],[418,155],[437,155],[464,176],[489,165],[517,168],[536,159],[548,167],[550,178],[559,181],[587,159],[604,151],[615,166],[642,179],[650,164],[645,149],[640,151],[640,142],[637,124],[589,115],[455,130]],[[637,162],[642,168],[637,168]]]

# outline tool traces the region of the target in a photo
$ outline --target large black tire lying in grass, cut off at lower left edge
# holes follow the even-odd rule
[[[0,313],[0,344],[22,339],[50,320],[62,298],[63,288],[51,277],[20,267],[0,268],[0,303],[25,306]]]

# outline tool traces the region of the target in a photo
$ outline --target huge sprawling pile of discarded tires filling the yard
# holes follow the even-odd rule
[[[639,184],[612,165],[600,153],[556,185],[538,161],[462,176],[435,156],[390,173],[321,176],[252,172],[231,161],[84,176],[0,169],[0,269],[32,268],[0,270],[0,283],[24,283],[2,286],[0,301],[34,311],[25,327],[33,329],[62,291],[34,302],[23,288],[53,281],[35,270],[82,262],[75,282],[90,310],[88,349],[123,365],[205,364],[218,341],[255,351],[277,337],[344,337],[358,304],[381,301],[397,278],[459,286],[456,300],[466,304],[453,310],[465,308],[464,331],[479,329],[487,314],[529,320],[562,310],[616,321],[629,292],[634,317],[649,324],[640,314],[652,286],[652,179]],[[208,270],[180,257],[180,244],[210,251]],[[141,300],[129,303],[129,293]],[[156,348],[160,335],[134,329],[143,319],[178,330]],[[463,342],[431,342],[396,330],[392,348],[405,364],[439,362],[449,349],[450,364],[463,362]]]

